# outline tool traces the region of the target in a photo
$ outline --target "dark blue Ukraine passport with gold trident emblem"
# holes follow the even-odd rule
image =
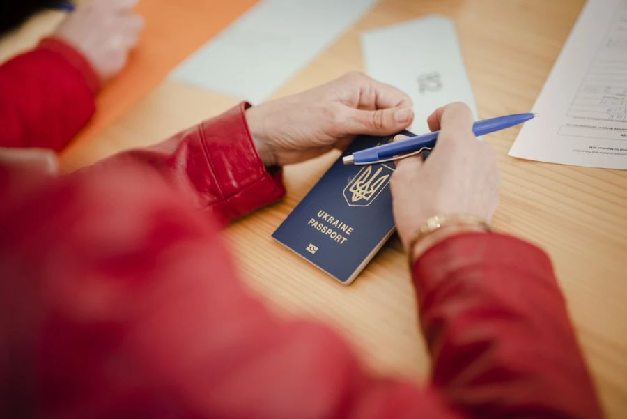
[[[353,282],[394,232],[394,162],[347,166],[342,157],[393,137],[357,137],[272,237],[342,284]]]

